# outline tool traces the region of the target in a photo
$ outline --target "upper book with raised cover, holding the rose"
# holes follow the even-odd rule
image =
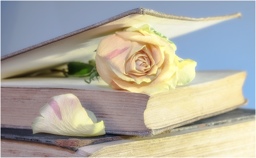
[[[1,127],[30,129],[39,109],[52,96],[66,93],[78,96],[103,120],[107,133],[125,135],[155,135],[242,106],[242,71],[197,72],[190,84],[154,95],[113,90],[102,80],[88,85],[83,78],[20,77],[67,62],[86,62],[94,58],[102,38],[126,27],[149,24],[172,38],[240,16],[195,19],[137,8],[3,56]]]

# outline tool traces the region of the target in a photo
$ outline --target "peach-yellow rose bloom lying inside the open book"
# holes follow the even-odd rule
[[[96,68],[114,89],[155,94],[195,77],[196,62],[179,58],[175,50],[174,43],[151,26],[130,27],[100,41]]]

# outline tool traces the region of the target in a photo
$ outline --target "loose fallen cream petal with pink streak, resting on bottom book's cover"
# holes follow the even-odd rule
[[[64,136],[91,137],[105,134],[103,121],[96,123],[93,112],[85,110],[73,94],[52,97],[33,120],[33,134],[44,132]]]

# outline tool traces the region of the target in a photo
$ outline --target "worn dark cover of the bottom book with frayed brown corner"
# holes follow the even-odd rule
[[[53,144],[56,146],[69,148],[72,150],[77,150],[79,147],[84,145],[92,145],[103,142],[117,141],[117,140],[129,140],[135,138],[142,139],[152,139],[164,137],[165,134],[170,133],[173,135],[175,132],[189,132],[190,130],[202,129],[204,127],[215,128],[219,125],[230,125],[241,123],[245,121],[255,120],[255,110],[250,109],[237,109],[234,111],[227,112],[225,114],[220,114],[211,118],[202,119],[185,126],[181,126],[175,129],[170,129],[168,131],[162,132],[153,137],[142,137],[142,136],[123,136],[123,135],[104,135],[96,137],[71,137],[71,136],[58,136],[52,134],[32,134],[31,130],[15,130],[15,129],[1,129],[1,139],[15,139],[15,140],[24,140],[32,141],[44,144]],[[2,126],[1,126],[2,128]],[[173,133],[173,134],[171,134]],[[179,134],[179,133],[177,133]]]

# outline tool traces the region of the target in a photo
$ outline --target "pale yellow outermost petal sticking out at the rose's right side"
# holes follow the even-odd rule
[[[195,78],[196,62],[190,59],[181,59],[175,55],[174,63],[177,65],[177,85],[185,85]]]

